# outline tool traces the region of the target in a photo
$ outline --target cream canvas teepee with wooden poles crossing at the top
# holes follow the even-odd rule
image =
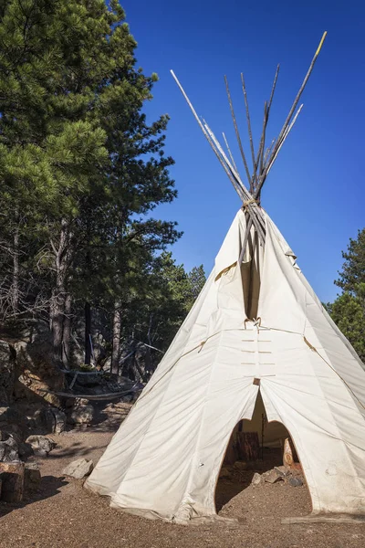
[[[277,68],[257,153],[242,78],[251,172],[225,80],[247,186],[227,143],[225,153],[178,82],[243,206],[193,309],[85,484],[114,508],[178,523],[217,519],[214,493],[229,439],[239,421],[251,419],[260,393],[268,421],[282,423],[295,444],[313,515],[365,514],[363,365],[260,206],[324,37],[266,149]]]

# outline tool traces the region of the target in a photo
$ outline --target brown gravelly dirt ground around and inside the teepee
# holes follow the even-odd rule
[[[364,548],[365,524],[282,525],[283,517],[308,514],[308,490],[282,481],[253,487],[255,470],[218,482],[217,509],[238,519],[235,525],[179,526],[110,509],[108,500],[84,490],[81,480],[62,476],[62,469],[79,457],[96,463],[128,410],[109,407],[86,431],[52,436],[57,448],[37,459],[39,492],[22,504],[0,502],[1,548]]]

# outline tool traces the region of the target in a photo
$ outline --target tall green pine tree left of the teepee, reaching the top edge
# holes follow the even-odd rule
[[[8,0],[0,16],[3,260],[14,308],[19,279],[42,273],[60,361],[72,300],[118,303],[133,242],[153,250],[179,237],[148,217],[176,195],[168,117],[148,124],[142,112],[157,77],[136,68],[117,1]]]

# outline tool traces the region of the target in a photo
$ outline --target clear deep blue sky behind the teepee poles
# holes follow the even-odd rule
[[[318,297],[333,300],[341,250],[365,226],[365,3],[122,0],[121,5],[138,42],[138,64],[160,77],[148,116],[171,116],[166,152],[176,162],[171,173],[179,196],[172,205],[160,207],[158,215],[178,221],[184,232],[173,247],[177,261],[187,269],[203,263],[207,272],[240,201],[170,68],[198,113],[216,134],[226,132],[234,145],[224,74],[244,136],[244,72],[257,138],[264,100],[280,63],[268,128],[268,136],[275,137],[318,41],[328,31],[302,96],[303,111],[264,187],[263,205],[297,253]]]

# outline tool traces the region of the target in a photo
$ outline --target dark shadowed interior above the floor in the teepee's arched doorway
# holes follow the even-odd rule
[[[283,467],[288,450],[293,457],[293,470],[299,471],[300,463],[287,428],[282,423],[267,421],[264,402],[258,392],[252,419],[239,421],[226,448],[215,490],[216,511],[221,511],[249,487],[255,473],[262,475],[275,467]]]

